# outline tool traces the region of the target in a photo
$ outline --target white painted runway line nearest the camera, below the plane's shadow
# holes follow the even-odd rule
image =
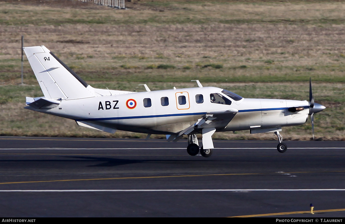
[[[345,189],[147,189],[147,190],[0,190],[0,192],[160,192],[160,191],[345,191]]]

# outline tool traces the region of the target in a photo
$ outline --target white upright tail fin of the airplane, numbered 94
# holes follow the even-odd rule
[[[23,47],[47,99],[80,99],[95,96],[92,88],[45,46]]]

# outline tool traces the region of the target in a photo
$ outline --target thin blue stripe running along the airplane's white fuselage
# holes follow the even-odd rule
[[[305,109],[309,108],[304,107]],[[288,107],[279,107],[279,108],[261,108],[261,109],[247,109],[247,110],[238,110],[237,113],[242,112],[255,112],[255,111],[269,111],[269,110],[286,110]],[[199,113],[185,113],[185,114],[161,114],[161,115],[144,115],[144,116],[130,116],[130,117],[103,117],[103,118],[85,118],[77,119],[76,121],[94,121],[94,120],[124,120],[124,119],[139,119],[139,118],[154,118],[154,117],[176,117],[176,116],[191,116],[191,115],[205,115],[208,112],[199,112]]]

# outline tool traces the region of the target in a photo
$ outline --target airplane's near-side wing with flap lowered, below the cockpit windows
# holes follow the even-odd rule
[[[224,129],[229,124],[229,122],[235,117],[237,112],[237,109],[215,110],[207,112],[193,125],[180,131],[176,135],[167,136],[167,139],[168,141],[178,141],[183,137],[183,135],[189,135],[192,132],[198,132],[198,130],[203,128]]]

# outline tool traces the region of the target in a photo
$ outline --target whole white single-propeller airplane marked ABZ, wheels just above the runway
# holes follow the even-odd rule
[[[115,133],[116,130],[164,134],[168,141],[188,136],[187,152],[212,154],[216,131],[274,132],[279,152],[287,147],[279,131],[302,125],[325,109],[314,103],[311,80],[309,102],[285,99],[246,99],[216,87],[168,89],[146,92],[96,89],[83,81],[45,46],[24,47],[44,97],[26,97],[26,109],[73,119],[78,125]],[[202,134],[199,149],[196,134]]]

